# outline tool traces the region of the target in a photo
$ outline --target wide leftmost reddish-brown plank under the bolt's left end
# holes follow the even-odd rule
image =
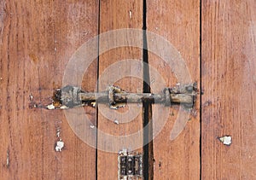
[[[46,104],[61,87],[70,56],[97,34],[97,11],[94,0],[1,1],[1,179],[95,179],[95,149],[75,136],[64,113],[29,105],[30,95]],[[87,82],[92,89],[96,78]],[[95,121],[95,112],[90,115]],[[62,152],[55,152],[57,129]]]

